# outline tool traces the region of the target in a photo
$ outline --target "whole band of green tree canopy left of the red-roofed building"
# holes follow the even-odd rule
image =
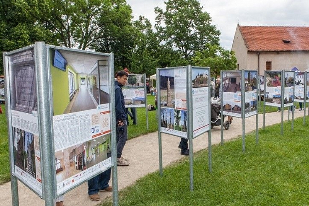
[[[220,32],[197,0],[164,3],[164,10],[155,8],[153,27],[143,16],[133,21],[126,0],[2,0],[0,51],[45,41],[114,53],[115,71],[127,67],[146,76],[188,64],[210,66],[217,75],[236,68],[234,53],[220,47]]]

